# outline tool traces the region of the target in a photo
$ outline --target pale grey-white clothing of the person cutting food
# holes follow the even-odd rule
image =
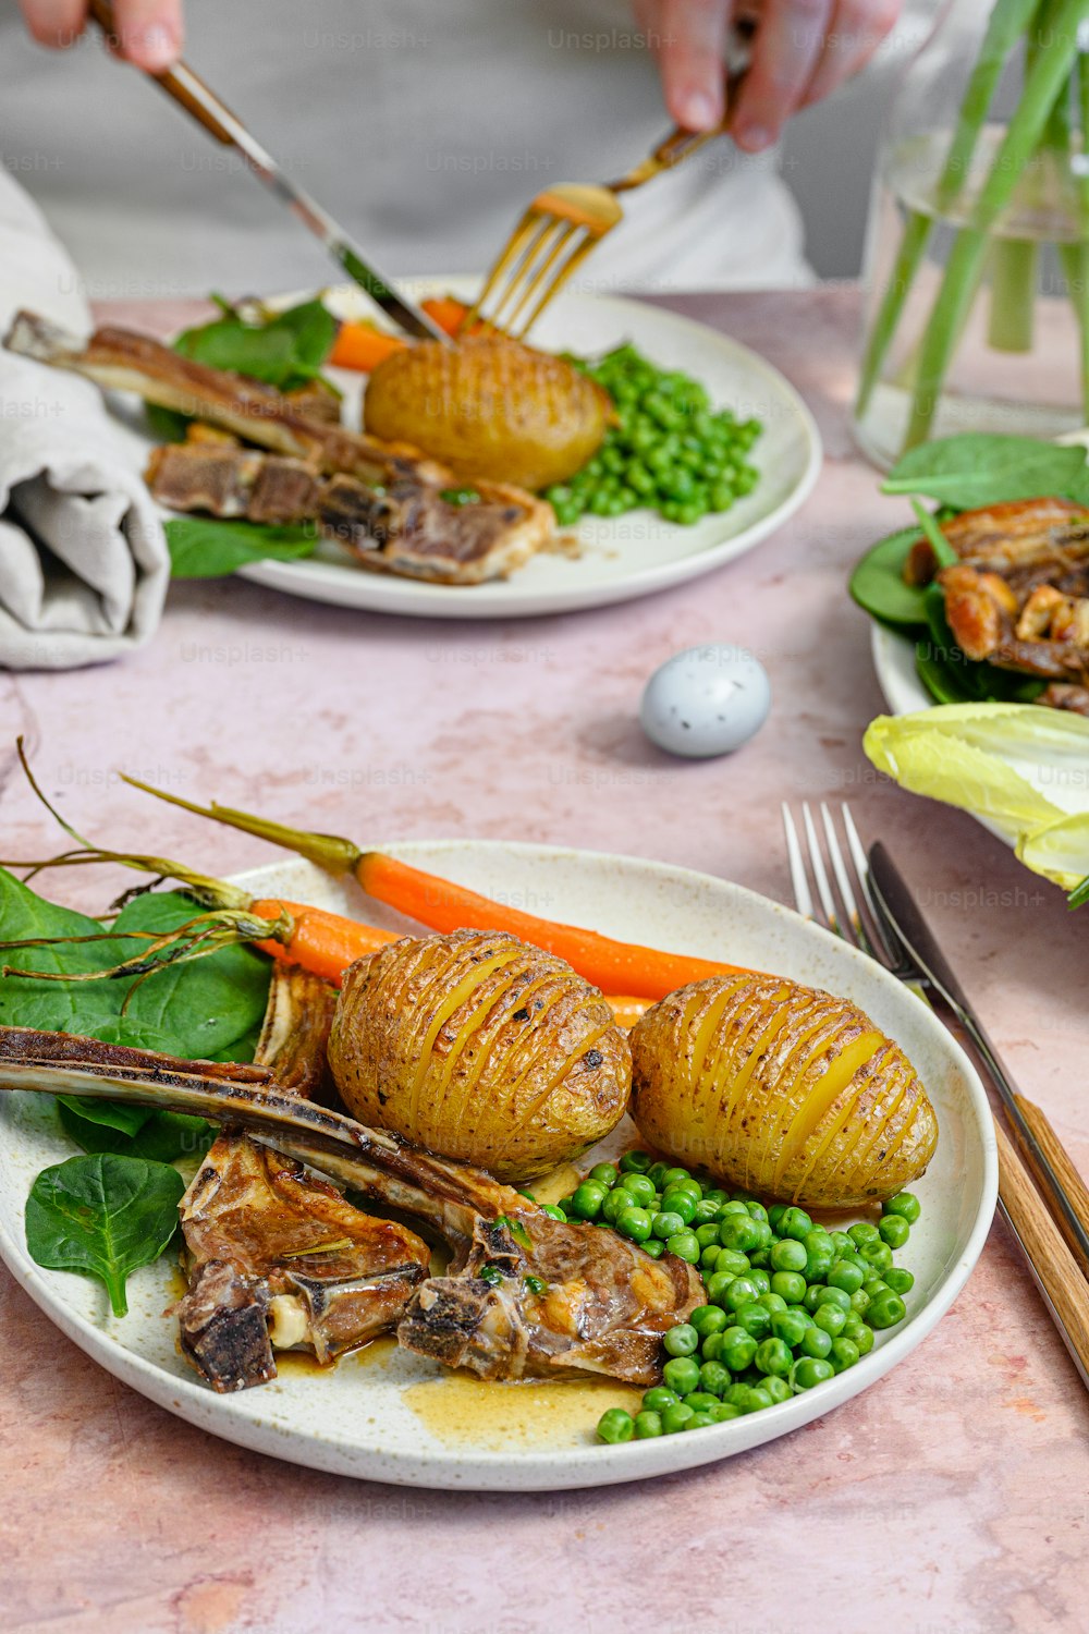
[[[393,275],[482,271],[529,198],[609,180],[668,132],[627,0],[189,0],[186,60]],[[91,299],[325,283],[330,261],[242,160],[96,38],[0,20],[0,157]],[[728,141],[625,199],[589,288],[810,279],[774,155]]]

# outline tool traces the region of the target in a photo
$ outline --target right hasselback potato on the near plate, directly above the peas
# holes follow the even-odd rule
[[[911,1062],[846,998],[709,977],[632,1028],[648,1145],[764,1198],[857,1208],[922,1173],[937,1118]]]

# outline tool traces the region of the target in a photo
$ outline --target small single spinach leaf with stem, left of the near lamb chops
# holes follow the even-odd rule
[[[176,1168],[96,1152],[42,1168],[26,1199],[26,1247],[38,1265],[106,1284],[116,1317],[126,1281],[165,1250],[178,1229],[184,1185]]]

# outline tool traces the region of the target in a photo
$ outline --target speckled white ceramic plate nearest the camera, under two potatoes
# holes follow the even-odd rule
[[[980,1080],[924,1003],[864,954],[789,909],[687,869],[490,840],[415,842],[384,850],[536,912],[629,940],[653,935],[668,948],[779,971],[857,1000],[906,1049],[940,1124],[934,1163],[914,1188],[922,1217],[903,1253],[916,1275],[906,1322],[880,1335],[857,1366],[805,1395],[696,1435],[625,1446],[593,1440],[602,1407],[617,1399],[607,1386],[478,1384],[444,1374],[436,1363],[402,1355],[385,1342],[330,1371],[289,1364],[273,1384],[216,1395],[178,1355],[175,1324],[165,1314],[178,1288],[165,1261],[131,1278],[131,1312],[116,1320],[98,1284],[44,1271],[28,1258],[26,1194],[34,1175],[72,1155],[72,1147],[57,1134],[44,1098],[5,1095],[0,1255],[69,1338],[150,1400],[240,1446],[312,1469],[446,1490],[602,1485],[713,1462],[841,1405],[926,1338],[983,1248],[994,1211],[996,1157]],[[256,894],[364,912],[354,887],[302,861],[260,869],[243,882]],[[366,917],[397,925],[372,902],[366,902]],[[632,1141],[633,1131],[620,1129],[606,1149],[614,1152]],[[922,1413],[922,1407],[918,1410]]]

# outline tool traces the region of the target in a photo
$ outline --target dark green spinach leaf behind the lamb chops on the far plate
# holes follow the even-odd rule
[[[289,392],[318,376],[335,340],[336,319],[320,301],[304,301],[268,324],[247,324],[229,310],[211,324],[184,330],[173,350],[196,363],[248,374]]]

